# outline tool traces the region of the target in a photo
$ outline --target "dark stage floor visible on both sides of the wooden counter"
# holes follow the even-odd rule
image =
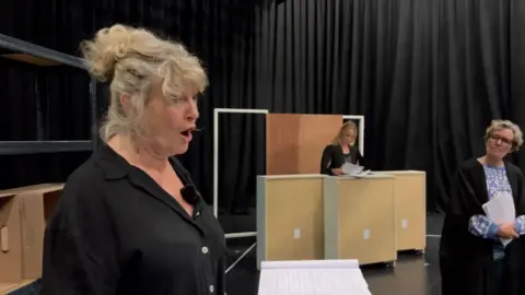
[[[232,224],[237,219],[250,219],[250,216],[222,216]],[[230,220],[232,219],[232,220]],[[441,232],[442,217],[429,215],[427,217],[427,249],[424,256],[402,252],[399,253],[396,268],[387,268],[384,264],[363,267],[363,274],[370,285],[373,295],[441,295],[440,269],[438,249]],[[225,224],[224,224],[225,225]],[[249,231],[252,228],[243,228]],[[255,243],[255,238],[229,240],[230,263]],[[256,295],[258,287],[258,271],[256,269],[255,251],[247,255],[228,273],[229,295]]]

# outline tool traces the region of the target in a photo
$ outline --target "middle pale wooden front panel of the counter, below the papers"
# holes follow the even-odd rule
[[[339,259],[397,260],[394,177],[338,180]]]

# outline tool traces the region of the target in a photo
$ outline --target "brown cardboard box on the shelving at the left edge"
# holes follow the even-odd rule
[[[0,191],[0,282],[40,278],[46,221],[62,189],[46,184]]]

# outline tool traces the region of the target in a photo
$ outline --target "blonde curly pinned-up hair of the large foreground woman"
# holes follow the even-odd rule
[[[176,42],[161,39],[145,28],[121,24],[100,30],[92,40],[81,43],[91,74],[110,82],[110,101],[101,138],[117,133],[147,138],[144,108],[152,85],[161,84],[166,99],[205,91],[208,78],[197,57]],[[120,97],[129,95],[130,109]]]

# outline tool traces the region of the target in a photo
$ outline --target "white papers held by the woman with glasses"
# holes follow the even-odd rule
[[[516,209],[514,206],[514,198],[510,192],[500,192],[492,200],[482,205],[485,214],[500,224],[512,222],[516,219]],[[512,239],[500,238],[503,246],[509,245]]]

